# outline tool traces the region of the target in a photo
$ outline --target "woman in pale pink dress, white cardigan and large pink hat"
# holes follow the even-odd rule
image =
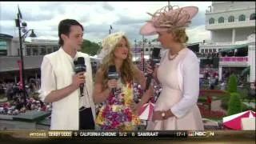
[[[186,48],[186,26],[198,13],[198,7],[165,6],[142,26],[140,34],[158,34],[166,51],[154,71],[162,92],[154,106],[147,130],[204,130],[197,106],[199,93],[199,63],[193,51]]]

